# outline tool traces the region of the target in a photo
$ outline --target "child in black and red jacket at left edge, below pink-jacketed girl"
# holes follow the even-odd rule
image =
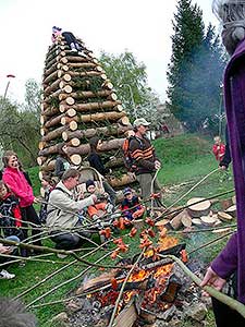
[[[0,227],[3,227],[4,238],[15,235],[21,241],[24,240],[19,199],[10,192],[3,181],[0,181]]]

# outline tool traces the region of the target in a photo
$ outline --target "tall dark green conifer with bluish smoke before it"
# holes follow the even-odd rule
[[[223,49],[212,25],[205,33],[203,13],[191,0],[179,1],[174,19],[169,106],[189,131],[197,131],[219,111]]]

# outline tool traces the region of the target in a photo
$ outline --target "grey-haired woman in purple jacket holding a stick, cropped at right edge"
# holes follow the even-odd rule
[[[237,232],[211,263],[203,286],[222,290],[226,279],[235,274],[237,300],[245,304],[245,0],[215,0],[213,11],[222,22],[222,41],[231,55],[224,73],[224,101],[236,193]],[[217,326],[245,326],[241,315],[216,300],[213,311]]]

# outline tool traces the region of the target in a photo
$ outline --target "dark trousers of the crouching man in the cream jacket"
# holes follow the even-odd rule
[[[56,243],[57,250],[74,250],[81,246],[79,235],[72,233],[62,233],[61,231],[51,232],[51,240]]]

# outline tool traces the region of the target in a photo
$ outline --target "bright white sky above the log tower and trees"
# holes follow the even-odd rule
[[[193,0],[204,21],[218,25],[211,0]],[[132,51],[147,66],[148,84],[166,99],[166,71],[171,57],[173,13],[176,0],[1,0],[0,95],[7,75],[14,74],[8,96],[24,100],[28,78],[41,82],[44,61],[51,44],[51,27],[72,32],[96,56],[100,50]]]

